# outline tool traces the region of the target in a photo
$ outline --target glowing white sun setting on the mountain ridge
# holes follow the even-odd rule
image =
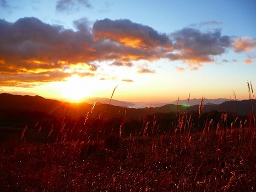
[[[84,98],[90,96],[90,87],[86,86],[85,79],[80,78],[78,75],[73,75],[64,81],[61,89],[62,96],[70,102],[79,102]]]

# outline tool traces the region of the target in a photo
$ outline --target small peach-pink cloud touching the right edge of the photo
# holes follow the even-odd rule
[[[235,53],[242,53],[256,48],[256,39],[252,37],[236,37],[232,43]]]

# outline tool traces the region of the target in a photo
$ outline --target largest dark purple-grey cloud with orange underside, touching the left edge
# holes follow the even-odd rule
[[[37,18],[0,20],[0,28],[0,64],[8,68],[61,69],[63,64],[95,60],[92,36],[84,30],[65,30]]]

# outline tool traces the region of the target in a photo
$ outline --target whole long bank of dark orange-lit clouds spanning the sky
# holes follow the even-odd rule
[[[73,2],[60,0],[64,7],[58,9],[72,7]],[[81,2],[90,7],[89,1]],[[109,67],[155,73],[148,66],[135,66],[133,61],[167,58],[170,64],[179,60],[195,70],[227,50],[241,53],[256,46],[251,37],[225,36],[220,30],[184,28],[165,34],[127,19],[97,20],[90,26],[84,18],[74,21],[74,26],[75,30],[65,29],[37,18],[21,18],[14,23],[0,19],[0,85],[61,81],[74,73],[94,76],[101,67],[95,62],[104,61],[112,62]],[[68,66],[85,69],[67,70]]]

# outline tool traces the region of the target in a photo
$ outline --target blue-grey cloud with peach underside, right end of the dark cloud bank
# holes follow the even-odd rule
[[[231,46],[231,37],[222,36],[220,30],[201,32],[184,28],[171,34],[177,58],[190,62],[211,62]],[[176,59],[171,55],[170,59]]]

